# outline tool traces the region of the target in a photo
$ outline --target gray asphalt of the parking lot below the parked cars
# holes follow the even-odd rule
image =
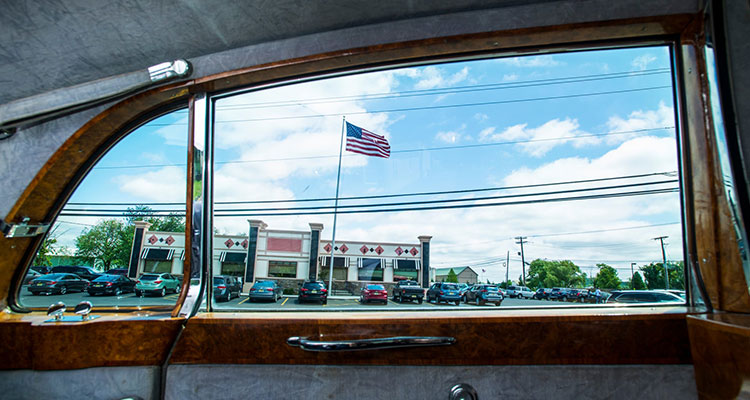
[[[26,307],[46,308],[50,304],[62,301],[68,307],[72,308],[81,301],[89,301],[95,307],[138,307],[138,306],[169,306],[174,305],[177,301],[178,294],[169,294],[164,297],[158,296],[145,296],[139,297],[133,293],[126,293],[120,296],[90,296],[88,293],[66,293],[64,295],[53,294],[53,295],[39,295],[33,296],[24,287],[20,294],[20,303]],[[477,306],[475,304],[464,304],[455,305],[453,303],[427,303],[423,302],[418,304],[416,302],[404,302],[398,303],[389,299],[388,304],[382,303],[368,303],[360,304],[355,297],[346,298],[329,298],[327,304],[319,303],[299,303],[296,295],[285,295],[277,302],[251,302],[248,301],[247,296],[240,296],[234,298],[228,302],[215,302],[214,306],[217,309],[232,309],[232,310],[278,310],[278,311],[303,311],[303,310],[320,310],[320,311],[334,311],[334,310],[437,310],[437,309],[499,309],[503,307],[522,307],[522,306],[563,306],[570,303],[560,303],[555,301],[545,300],[531,300],[531,299],[511,299],[506,298],[502,304],[497,307],[493,304],[486,304]]]

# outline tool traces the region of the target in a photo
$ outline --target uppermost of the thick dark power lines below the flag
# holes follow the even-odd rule
[[[339,201],[349,201],[349,200],[368,200],[368,199],[383,199],[383,198],[394,198],[394,197],[413,197],[413,196],[436,196],[436,195],[445,195],[445,194],[466,194],[466,193],[477,193],[477,192],[488,192],[488,191],[498,191],[498,190],[514,190],[514,189],[528,189],[528,188],[534,188],[534,187],[545,187],[545,186],[560,186],[560,185],[572,185],[572,184],[579,184],[579,183],[592,183],[592,182],[603,182],[603,181],[611,181],[611,180],[622,180],[622,179],[635,179],[635,178],[646,178],[650,176],[674,176],[676,174],[676,171],[667,171],[667,172],[650,172],[646,174],[635,174],[635,175],[622,175],[622,176],[613,176],[613,177],[607,177],[607,178],[592,178],[592,179],[579,179],[574,181],[562,181],[562,182],[545,182],[545,183],[534,183],[534,184],[528,184],[528,185],[515,185],[515,186],[500,186],[500,187],[492,187],[492,188],[478,188],[478,189],[461,189],[461,190],[447,190],[447,191],[438,191],[438,192],[417,192],[417,193],[398,193],[398,194],[381,194],[381,195],[372,195],[372,196],[352,196],[352,197],[339,197]],[[276,199],[276,200],[245,200],[245,201],[217,201],[214,204],[272,204],[272,203],[302,203],[302,202],[318,202],[318,201],[334,201],[334,197],[325,197],[325,198],[308,198],[308,199]],[[162,203],[138,203],[138,205],[184,205],[184,202],[175,202],[175,203],[169,203],[169,202],[162,202]],[[132,206],[135,205],[135,203],[82,203],[82,202],[71,202],[67,204],[68,206],[108,206],[108,205],[119,205],[119,206]]]

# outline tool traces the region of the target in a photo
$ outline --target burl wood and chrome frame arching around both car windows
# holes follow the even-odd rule
[[[666,20],[673,19],[674,21],[681,20],[678,16],[665,16],[662,17]],[[673,21],[673,22],[674,22]],[[682,20],[684,22],[684,20]],[[676,22],[675,22],[676,23]],[[606,23],[601,23],[603,26],[606,26]],[[624,23],[622,21],[615,21],[612,23],[614,26],[617,25],[623,25],[627,26],[628,23]],[[687,25],[687,24],[686,24]],[[631,26],[632,27],[632,26]],[[684,130],[683,124],[684,119],[686,119],[686,109],[689,107],[686,107],[685,103],[689,103],[689,101],[686,100],[686,92],[692,93],[695,91],[695,88],[688,87],[689,84],[684,83],[684,74],[685,71],[688,71],[690,67],[694,67],[696,63],[695,58],[691,58],[691,56],[694,57],[694,55],[688,55],[686,53],[686,48],[690,46],[697,46],[695,43],[691,43],[689,40],[685,40],[685,37],[689,36],[690,32],[699,32],[700,27],[691,27],[691,26],[683,26],[682,30],[674,30],[672,33],[661,33],[661,34],[651,34],[646,35],[643,33],[637,33],[632,34],[630,36],[625,35],[625,37],[619,37],[619,38],[608,38],[608,39],[602,39],[601,41],[596,40],[583,40],[583,41],[565,41],[563,39],[562,42],[555,42],[555,41],[548,41],[546,44],[542,44],[540,46],[536,46],[534,48],[523,48],[523,47],[514,47],[511,45],[506,46],[500,46],[497,47],[497,43],[494,45],[487,43],[484,39],[480,39],[482,43],[477,43],[477,35],[467,35],[464,37],[459,38],[458,40],[463,41],[466,40],[470,44],[467,46],[463,46],[462,48],[456,49],[450,49],[446,50],[444,46],[441,46],[440,44],[434,44],[434,43],[428,43],[427,47],[432,46],[429,50],[425,52],[425,54],[421,54],[419,56],[415,56],[413,53],[404,53],[404,52],[395,52],[396,54],[391,54],[389,52],[392,52],[394,48],[402,48],[402,47],[412,47],[415,46],[414,43],[405,44],[400,43],[394,45],[394,47],[388,48],[388,49],[381,49],[381,51],[374,51],[373,56],[362,56],[362,59],[358,59],[355,62],[351,62],[352,53],[351,52],[337,52],[332,55],[328,55],[327,57],[323,57],[324,60],[321,61],[321,59],[311,59],[309,62],[312,65],[316,65],[316,63],[323,63],[325,66],[322,68],[302,68],[302,72],[295,71],[294,65],[297,64],[296,62],[290,62],[289,65],[290,68],[286,68],[284,65],[276,65],[276,68],[274,72],[277,72],[275,74],[270,74],[270,77],[261,77],[258,79],[248,79],[248,75],[253,75],[254,73],[259,73],[258,71],[262,70],[263,67],[259,67],[257,69],[252,69],[251,71],[238,71],[235,73],[229,73],[227,76],[230,78],[232,76],[237,77],[237,79],[226,79],[224,83],[219,85],[204,85],[205,82],[211,81],[206,80],[204,82],[200,82],[200,84],[196,84],[195,88],[198,90],[193,90],[193,92],[190,94],[189,97],[187,97],[188,93],[185,91],[182,91],[182,96],[175,96],[174,91],[170,92],[169,90],[158,90],[156,91],[158,93],[157,96],[162,100],[162,104],[159,105],[157,108],[161,111],[154,112],[154,111],[148,111],[146,113],[143,113],[142,115],[152,115],[152,118],[155,118],[158,115],[161,115],[159,113],[166,113],[168,111],[164,111],[165,109],[169,108],[169,111],[174,111],[176,109],[183,108],[182,104],[184,104],[184,101],[187,100],[189,102],[189,110],[190,110],[190,136],[191,140],[195,139],[196,137],[196,131],[197,135],[200,136],[201,133],[205,134],[204,140],[208,140],[210,142],[211,135],[212,135],[212,126],[206,126],[204,124],[206,121],[211,121],[212,119],[212,107],[207,107],[207,104],[211,103],[210,101],[207,101],[207,98],[214,99],[214,98],[220,98],[219,96],[226,96],[228,94],[236,94],[241,91],[251,91],[251,90],[262,90],[263,88],[274,86],[274,85],[284,85],[287,84],[287,82],[291,82],[294,80],[300,80],[300,79],[322,79],[324,77],[330,77],[335,76],[336,74],[349,74],[352,71],[355,72],[367,72],[371,70],[378,70],[378,69],[390,69],[394,68],[395,65],[399,66],[408,66],[408,65],[422,65],[422,64],[430,64],[435,62],[441,62],[451,59],[470,59],[470,58],[489,58],[494,57],[495,55],[502,55],[502,56],[513,56],[517,55],[519,53],[526,53],[527,51],[531,50],[531,52],[535,52],[537,54],[544,54],[549,51],[577,51],[577,50],[592,50],[597,48],[613,48],[613,47],[628,47],[628,46],[649,46],[649,45],[670,45],[673,49],[673,73],[675,75],[675,105],[677,106],[679,104],[679,107],[676,107],[679,111],[678,114],[680,115],[679,121],[678,121],[678,142],[679,142],[679,148],[680,151],[678,152],[678,160],[679,160],[679,169],[680,169],[680,179],[681,179],[681,195],[683,196],[682,201],[682,209],[683,209],[683,229],[685,230],[685,234],[683,235],[684,243],[686,250],[684,253],[687,254],[686,261],[690,263],[690,260],[697,259],[696,254],[698,251],[696,250],[696,243],[695,243],[695,231],[696,226],[694,223],[694,215],[693,215],[693,204],[690,204],[689,206],[686,206],[687,203],[690,203],[692,200],[692,193],[690,193],[690,190],[692,188],[692,182],[690,182],[692,177],[693,171],[690,170],[689,161],[685,161],[683,158],[687,157],[689,158],[689,153],[691,151],[691,148],[686,145],[685,141],[688,139],[693,139],[692,137],[688,138],[686,136],[690,136],[689,133],[687,133]],[[650,27],[650,29],[654,29],[653,26]],[[662,29],[669,31],[669,29],[662,27]],[[606,37],[608,30],[606,28],[602,28],[603,35]],[[686,33],[687,32],[687,33]],[[610,35],[614,35],[610,32]],[[682,35],[682,36],[680,36]],[[482,37],[482,35],[478,35],[479,37]],[[617,36],[617,35],[614,35]],[[545,42],[543,39],[542,42]],[[423,42],[429,42],[429,41],[423,41]],[[564,43],[564,44],[555,44],[555,43]],[[435,48],[438,48],[438,50],[435,50]],[[368,51],[371,51],[372,49],[359,49],[359,54],[365,54]],[[357,52],[355,52],[357,53]],[[341,59],[342,55],[346,54],[346,57],[349,58],[349,63],[346,64],[344,67],[341,66]],[[335,61],[333,63],[327,63],[329,60],[338,60],[339,63],[336,63]],[[687,60],[686,60],[687,59]],[[283,64],[283,63],[282,63]],[[334,64],[331,66],[331,64]],[[688,67],[685,67],[684,64],[688,64]],[[700,65],[698,65],[700,66]],[[291,70],[291,72],[289,71]],[[263,74],[261,74],[263,75]],[[225,77],[224,77],[225,78]],[[222,78],[222,79],[224,79]],[[242,88],[237,89],[239,86],[244,86]],[[252,86],[252,87],[248,87]],[[213,91],[208,91],[205,89],[215,89]],[[173,89],[173,88],[170,88]],[[204,90],[201,90],[204,89]],[[171,97],[170,97],[171,96]],[[180,105],[175,106],[176,103]],[[200,103],[200,104],[198,104]],[[157,102],[158,104],[158,102]],[[196,106],[198,105],[198,106]],[[202,108],[202,115],[205,116],[205,118],[200,119],[196,118],[196,110],[200,111]],[[149,119],[150,120],[150,119]],[[131,120],[132,121],[132,120]],[[74,180],[72,182],[68,183],[67,186],[67,192],[63,191],[63,196],[58,199],[57,201],[57,211],[59,212],[59,208],[61,207],[62,203],[64,203],[65,194],[69,195],[72,192],[72,188],[74,188],[78,181],[80,181],[80,178],[85,175],[87,168],[90,168],[93,163],[106,153],[106,150],[114,145],[120,138],[124,137],[127,133],[132,131],[135,127],[139,126],[140,124],[143,124],[147,122],[148,120],[138,119],[137,122],[129,122],[132,124],[130,129],[125,129],[123,131],[120,131],[119,134],[115,134],[112,138],[109,139],[107,146],[101,146],[99,149],[101,150],[100,153],[96,153],[94,157],[90,158],[86,163],[84,163],[85,167],[80,169],[77,172],[77,178],[78,180]],[[203,123],[203,124],[202,124]],[[203,126],[201,126],[203,125]],[[125,124],[127,126],[127,124]],[[203,168],[203,173],[212,173],[211,169],[211,163],[207,162],[206,157],[204,157],[201,161],[202,164],[200,165],[192,165],[192,161],[194,160],[193,149],[188,146],[188,176],[190,177],[191,172],[195,173],[195,171],[191,170],[191,167],[197,167],[197,168]],[[683,171],[683,167],[687,165],[687,170]],[[188,179],[190,181],[190,179]],[[189,185],[188,193],[191,193],[192,191],[192,185]],[[687,193],[687,196],[686,196]],[[691,198],[687,198],[691,197]],[[190,197],[188,197],[188,206],[187,209],[190,210],[192,207],[192,202],[190,201]],[[210,202],[207,202],[210,203]],[[206,203],[204,203],[205,205]],[[687,210],[686,210],[687,208]],[[190,213],[188,213],[190,215]],[[193,215],[194,216],[194,215]],[[204,214],[204,217],[206,217],[206,214]],[[191,218],[186,218],[187,221],[190,221]],[[204,227],[208,228],[208,226]],[[187,230],[187,229],[186,229]],[[204,229],[206,231],[206,229]],[[188,235],[190,236],[190,235]],[[38,246],[41,244],[41,240],[36,240],[36,246],[32,246],[34,253],[35,249],[38,248]],[[187,247],[187,243],[186,243]],[[710,246],[706,246],[707,251],[718,251],[716,248],[719,246],[715,246],[714,249],[710,248]],[[204,249],[205,250],[205,249]],[[209,248],[210,251],[210,248]],[[27,251],[26,253],[26,261],[28,262],[31,257],[31,251]],[[205,257],[205,254],[203,255]],[[186,257],[189,258],[189,257]],[[196,262],[200,262],[200,260],[195,260]],[[197,263],[196,263],[197,264]],[[28,265],[28,263],[26,264]],[[210,269],[206,271],[207,268],[205,268],[205,263],[203,266],[196,265],[198,267],[201,267],[201,274],[204,274],[204,279],[201,279],[201,291],[204,290],[205,282],[207,282],[210,278],[210,274],[212,271]],[[694,267],[694,266],[690,266]],[[190,268],[189,263],[186,263],[186,270]],[[25,269],[16,269],[14,274],[14,286],[16,287],[16,293],[12,295],[9,293],[9,305],[13,310],[17,311],[27,311],[23,307],[19,306],[16,302],[16,298],[18,295],[18,292],[21,289],[21,285],[18,284],[20,280],[23,278],[23,272],[25,272]],[[206,272],[208,274],[206,274]],[[692,268],[686,268],[686,282],[692,282],[691,275],[694,274],[694,271]],[[183,288],[188,288],[190,280],[188,279],[188,275],[184,275],[186,279],[184,279],[183,282]],[[700,276],[698,277],[700,278]],[[686,296],[689,299],[689,304],[694,305],[694,299],[691,295],[692,288],[688,287],[686,289]],[[206,289],[210,292],[211,288],[210,285]],[[192,313],[180,313],[180,310],[183,310],[184,307],[184,300],[187,296],[187,290],[183,290],[180,299],[177,302],[177,305],[173,309],[173,315],[194,315],[195,312],[197,312],[197,309],[194,310]],[[704,296],[705,297],[705,296]],[[159,308],[159,307],[157,307]],[[122,308],[119,308],[119,311],[122,311]],[[184,311],[184,310],[183,310]]]

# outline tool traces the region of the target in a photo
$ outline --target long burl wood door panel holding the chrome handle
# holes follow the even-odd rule
[[[538,365],[689,364],[684,314],[399,318],[275,318],[211,314],[192,319],[175,364]],[[320,316],[319,316],[320,317]],[[452,336],[451,346],[309,352],[290,336],[320,340]]]

